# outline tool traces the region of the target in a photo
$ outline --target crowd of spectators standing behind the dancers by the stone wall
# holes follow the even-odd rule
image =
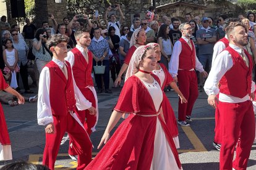
[[[175,17],[160,17],[158,14],[155,14],[155,7],[152,6],[147,10],[145,18],[140,17],[140,14],[135,14],[133,17],[130,25],[122,25],[124,14],[119,5],[109,6],[106,9],[103,16],[105,23],[100,22],[98,14],[93,15],[93,18],[89,18],[86,14],[75,15],[72,20],[64,17],[62,23],[56,22],[54,14],[50,14],[49,20],[53,21],[53,25],[49,26],[48,22],[43,21],[41,22],[41,28],[36,29],[36,26],[30,22],[30,19],[26,18],[26,25],[23,26],[22,33],[20,33],[17,24],[10,26],[6,22],[6,16],[2,16],[0,22],[0,43],[2,46],[0,51],[0,68],[4,73],[6,81],[10,84],[11,81],[14,81],[11,75],[17,78],[17,87],[13,86],[17,91],[20,92],[20,75],[23,88],[25,89],[24,92],[33,93],[30,90],[30,86],[37,86],[38,75],[52,58],[51,52],[45,45],[49,36],[51,34],[66,34],[66,36],[70,37],[67,48],[71,50],[76,46],[75,31],[79,28],[87,28],[87,30],[91,31],[92,43],[88,49],[93,53],[93,66],[105,66],[104,74],[94,74],[96,86],[98,87],[97,93],[112,93],[111,87],[109,87],[109,76],[111,75],[113,82],[117,81],[120,83],[127,65],[129,65],[129,63],[126,63],[126,58],[130,57],[127,55],[131,55],[131,52],[129,52],[131,47],[134,50],[134,47],[137,48],[142,44],[158,42],[161,49],[160,62],[168,68],[171,55],[174,53],[173,46],[182,35],[179,25],[181,25],[181,22],[188,22],[191,26],[191,39],[195,44],[198,60],[202,63],[203,68],[209,72],[211,69],[213,46],[221,38],[224,38],[225,31],[223,25],[226,18],[228,18],[224,14],[218,17],[214,16],[218,18],[215,23],[212,17],[200,18],[188,13],[184,15],[184,21],[181,21]],[[245,49],[255,57],[255,14],[249,12],[246,16],[239,14],[237,17],[247,26],[247,33],[249,34],[249,44],[245,46]],[[143,40],[144,34],[146,37],[145,41]],[[124,67],[122,67],[123,65]],[[15,75],[12,72],[14,70]],[[28,84],[28,76],[32,78],[32,84]],[[205,79],[198,75],[199,91],[203,91],[204,81]],[[119,86],[122,86],[122,84],[119,84]],[[164,89],[164,91],[169,90],[169,88]]]

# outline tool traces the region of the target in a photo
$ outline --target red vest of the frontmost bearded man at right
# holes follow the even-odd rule
[[[224,50],[231,54],[233,67],[221,78],[220,92],[234,97],[245,97],[250,94],[252,86],[252,57],[244,50],[249,59],[249,67],[247,67],[242,57],[233,48],[228,46]]]

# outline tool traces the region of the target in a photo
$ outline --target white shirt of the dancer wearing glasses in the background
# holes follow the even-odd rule
[[[189,41],[189,39],[187,39],[184,36],[182,36],[182,38],[186,42]],[[194,43],[192,43],[192,46],[195,47]],[[177,76],[177,71],[179,70],[179,54],[181,54],[181,51],[182,51],[181,41],[176,41],[175,44],[174,44],[174,47],[173,47],[173,54],[171,55],[171,61],[169,62],[169,73],[173,77]],[[200,72],[205,71],[205,70],[203,70],[202,64],[197,59],[196,54],[195,54],[195,69],[200,71]],[[194,69],[192,69],[192,70],[194,70]]]

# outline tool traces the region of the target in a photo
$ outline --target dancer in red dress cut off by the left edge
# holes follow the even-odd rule
[[[25,102],[22,95],[12,89],[12,87],[6,83],[4,77],[2,76],[2,71],[0,71],[0,90],[4,90],[13,95],[16,95],[19,99],[19,104]],[[7,131],[6,119],[4,118],[4,110],[2,110],[2,105],[0,103],[0,161],[6,160],[12,160],[12,149],[11,141]]]

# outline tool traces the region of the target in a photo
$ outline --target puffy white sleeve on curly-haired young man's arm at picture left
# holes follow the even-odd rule
[[[53,123],[53,113],[51,111],[51,103],[49,100],[49,85],[49,68],[44,67],[40,74],[37,102],[38,124],[43,126]]]

